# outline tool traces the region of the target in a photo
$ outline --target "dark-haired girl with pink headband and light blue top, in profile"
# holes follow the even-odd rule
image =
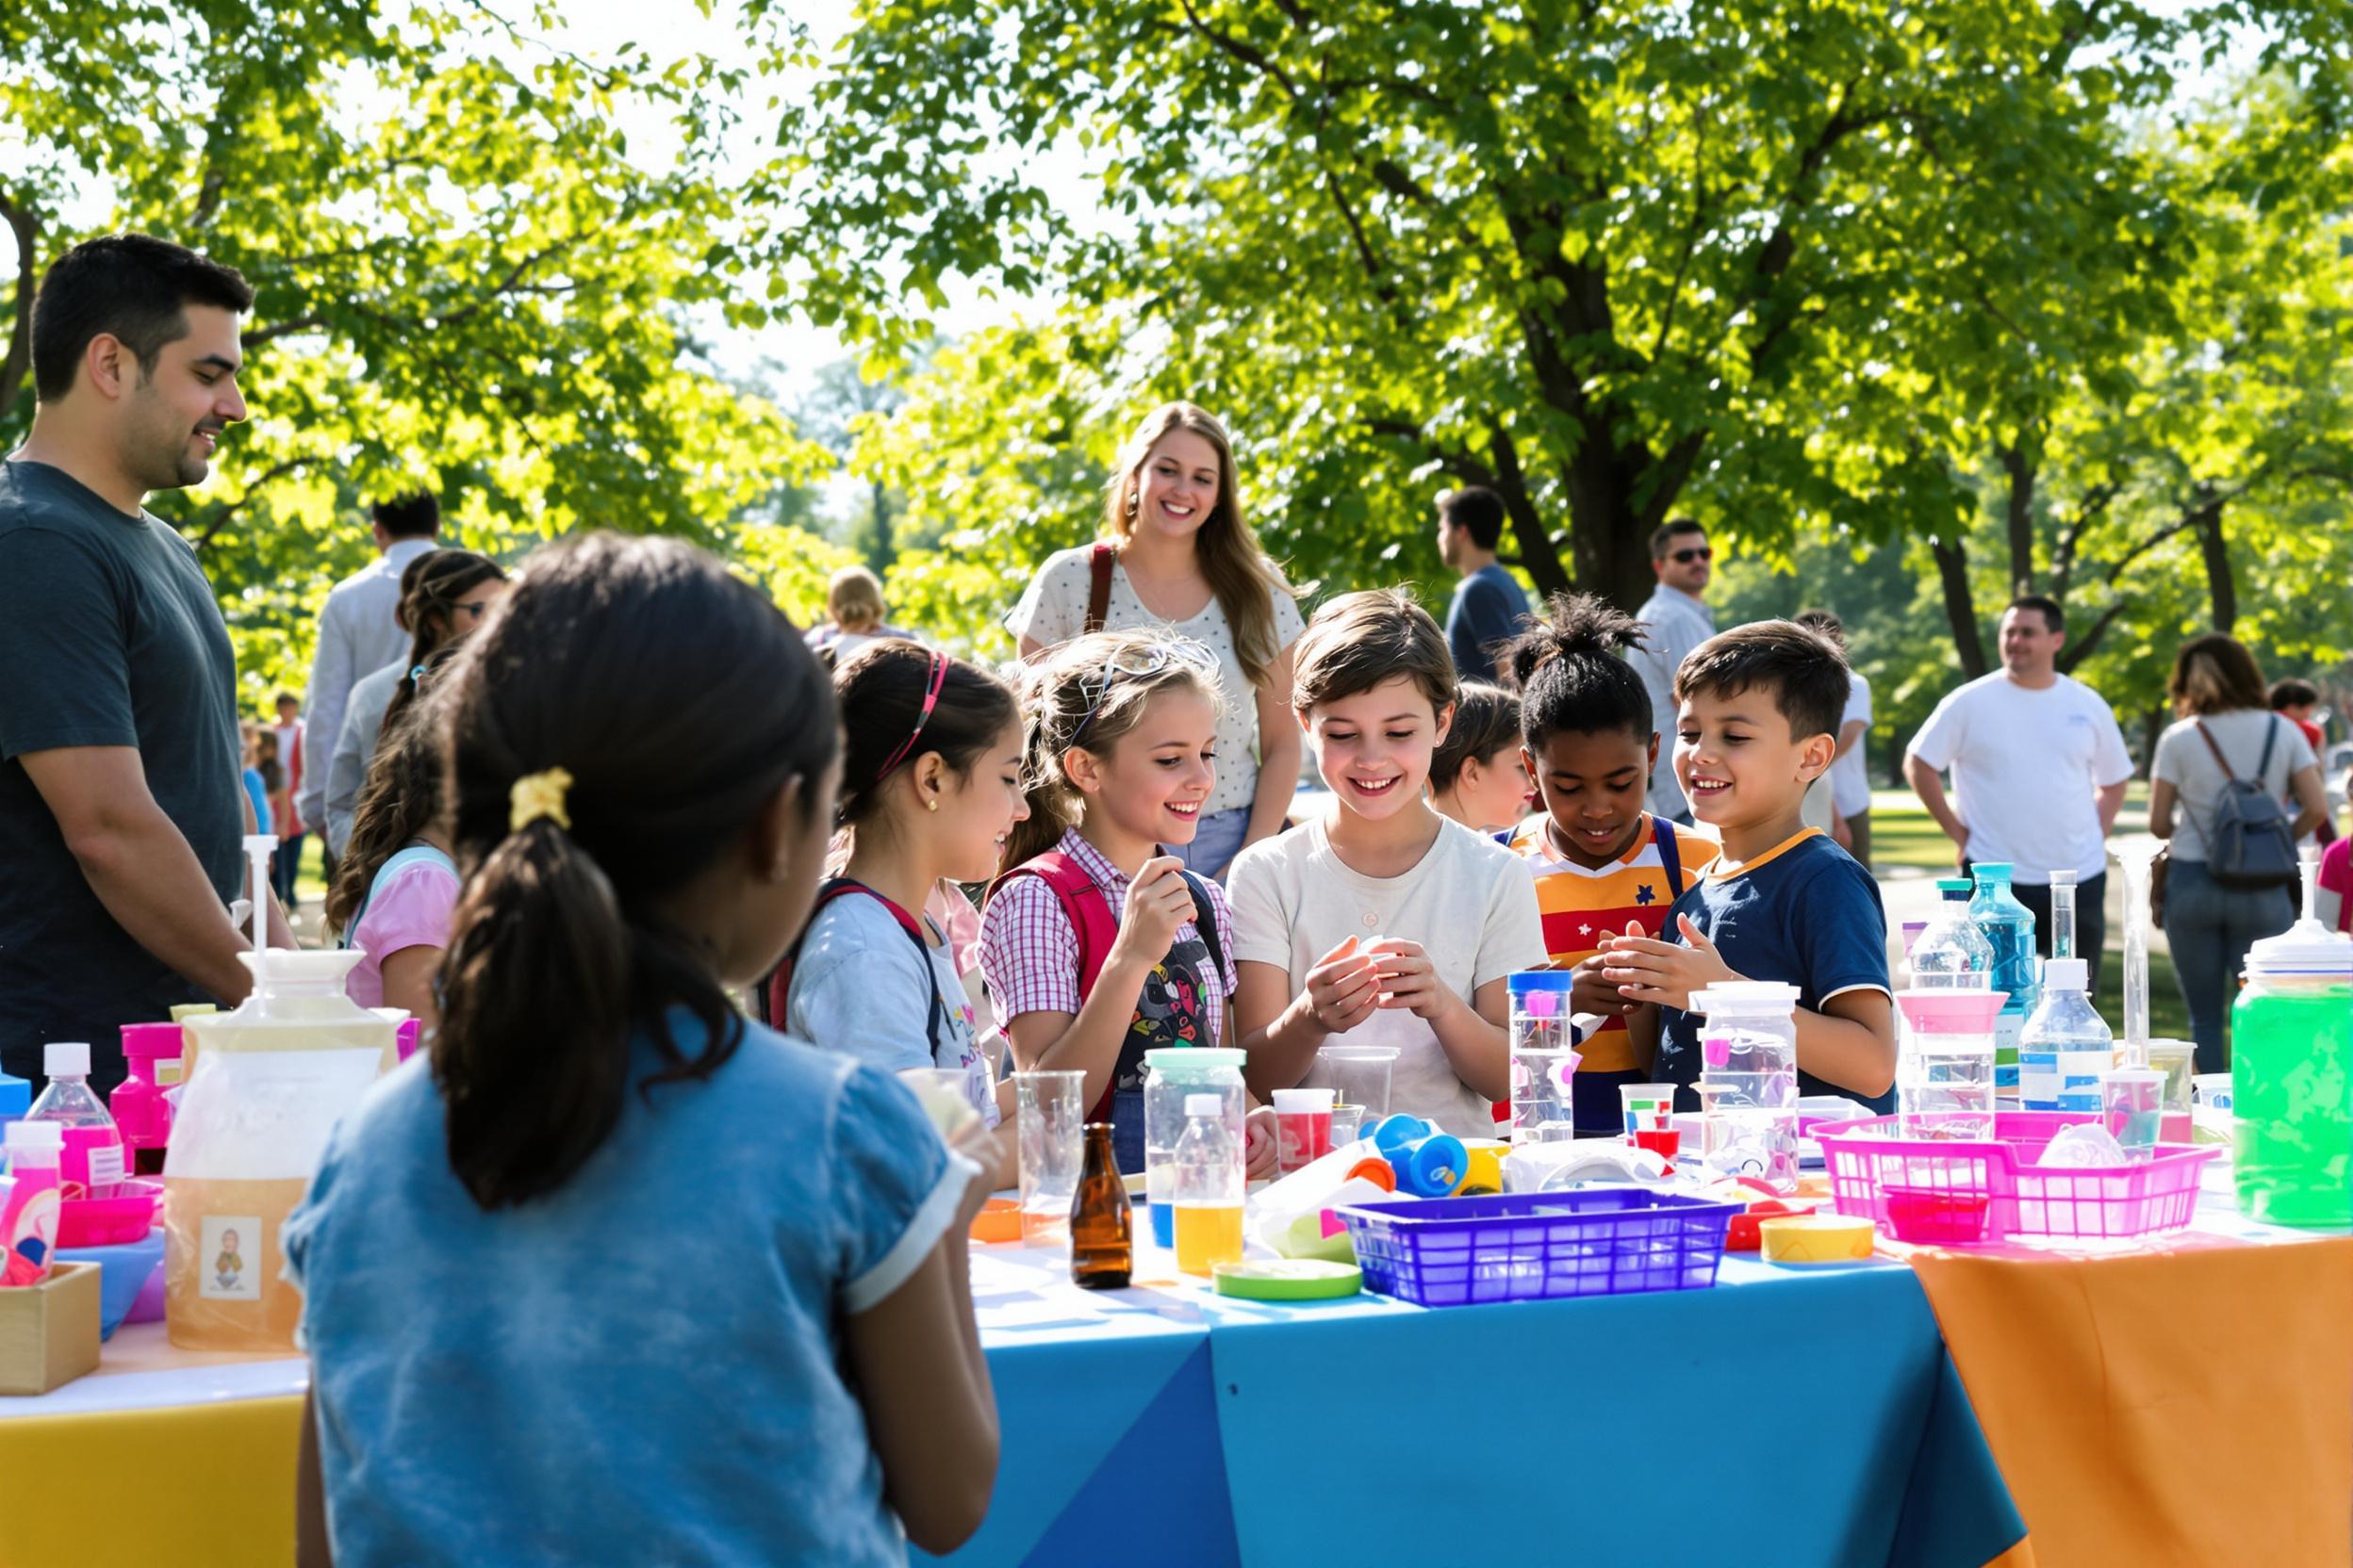
[[[842,661],[833,693],[845,741],[835,820],[849,856],[816,891],[816,914],[772,980],[769,1016],[887,1072],[958,1072],[965,1100],[995,1126],[1002,1105],[955,947],[927,905],[941,884],[988,882],[1028,818],[1021,708],[986,670],[899,639]],[[1014,1182],[1014,1154],[1000,1140],[998,1185]]]

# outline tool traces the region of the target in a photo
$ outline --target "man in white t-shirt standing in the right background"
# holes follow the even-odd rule
[[[2108,703],[2059,675],[2066,611],[2040,595],[2002,611],[2002,668],[1937,703],[1904,755],[1920,804],[1977,860],[2007,860],[2012,889],[2035,912],[2035,947],[2049,954],[2054,870],[2073,870],[2075,950],[2099,985],[2108,936],[2108,830],[2125,804],[2132,759]],[[1953,769],[1946,799],[1939,773]]]

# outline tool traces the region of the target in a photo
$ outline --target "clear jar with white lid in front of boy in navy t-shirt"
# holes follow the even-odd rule
[[[1692,992],[1704,1161],[1798,1190],[1798,987],[1729,980]]]

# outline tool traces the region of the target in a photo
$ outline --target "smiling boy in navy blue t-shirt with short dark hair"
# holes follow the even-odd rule
[[[1845,656],[1802,625],[1758,621],[1699,644],[1675,670],[1675,778],[1725,853],[1675,900],[1666,940],[1628,931],[1600,957],[1631,1004],[1635,1048],[1654,1046],[1657,1081],[1689,1086],[1692,992],[1784,980],[1798,987],[1798,1091],[1885,1114],[1897,1077],[1887,912],[1871,872],[1800,816],[1838,750]]]

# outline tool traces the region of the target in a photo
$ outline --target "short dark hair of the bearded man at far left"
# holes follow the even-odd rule
[[[73,367],[101,331],[132,350],[141,378],[153,376],[165,343],[188,336],[188,306],[242,315],[254,289],[238,268],[155,235],[82,240],[49,263],[33,301],[35,395],[56,402],[71,393]]]

